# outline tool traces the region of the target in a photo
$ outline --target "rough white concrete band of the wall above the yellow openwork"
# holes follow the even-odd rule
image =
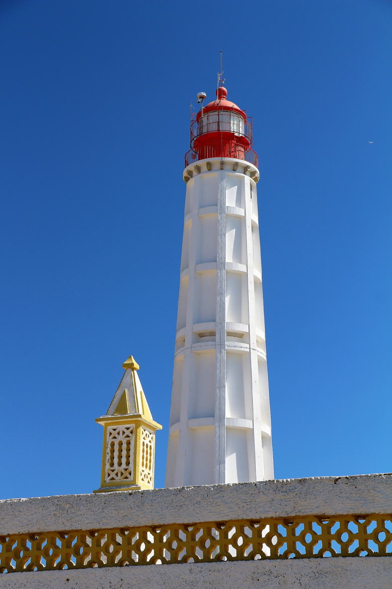
[[[0,534],[392,512],[392,474],[0,501]],[[392,585],[391,585],[392,587]]]

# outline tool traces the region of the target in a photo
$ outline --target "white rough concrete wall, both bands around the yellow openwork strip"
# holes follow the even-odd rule
[[[390,514],[392,475],[0,501],[0,534],[290,515]],[[392,557],[133,565],[0,574],[9,589],[391,589]]]

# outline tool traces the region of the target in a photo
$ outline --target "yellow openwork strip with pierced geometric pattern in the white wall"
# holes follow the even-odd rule
[[[0,572],[391,556],[392,516],[341,515],[0,536]]]

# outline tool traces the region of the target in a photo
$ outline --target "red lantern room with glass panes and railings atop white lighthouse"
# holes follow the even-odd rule
[[[220,86],[216,100],[193,115],[190,124],[190,150],[185,154],[185,167],[197,160],[232,157],[257,167],[257,154],[252,149],[252,117],[234,102],[227,100],[227,90]]]

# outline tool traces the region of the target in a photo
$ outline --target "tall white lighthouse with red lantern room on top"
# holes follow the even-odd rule
[[[216,95],[185,156],[166,487],[273,478],[252,120]]]

